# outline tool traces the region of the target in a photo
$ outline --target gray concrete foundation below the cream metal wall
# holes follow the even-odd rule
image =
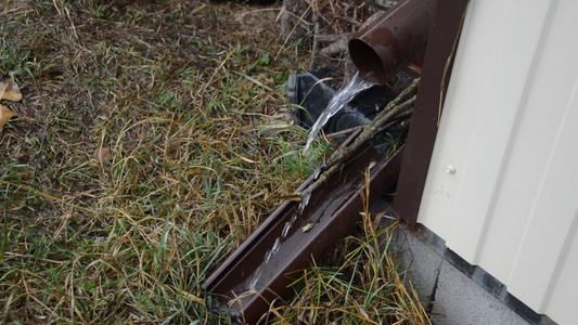
[[[428,230],[419,237],[398,230],[393,248],[400,271],[439,325],[554,324],[511,296],[505,286],[466,263]]]

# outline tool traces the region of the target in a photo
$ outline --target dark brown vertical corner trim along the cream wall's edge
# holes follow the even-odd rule
[[[468,0],[437,0],[418,99],[394,200],[400,224],[416,230],[418,212],[434,151],[455,49]]]

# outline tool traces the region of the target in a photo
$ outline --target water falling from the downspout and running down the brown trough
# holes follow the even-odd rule
[[[364,80],[359,75],[354,76],[351,81],[341,91],[338,91],[322,112],[313,127],[311,128],[309,139],[304,152],[307,152],[314,141],[316,135],[325,126],[325,123],[351,102],[360,92],[369,89],[373,82]],[[284,274],[288,263],[296,260],[301,252],[307,237],[317,236],[325,226],[331,218],[341,209],[341,207],[357,193],[364,184],[363,173],[359,168],[352,168],[351,171],[345,171],[338,179],[329,181],[326,185],[327,193],[323,188],[316,190],[316,194],[301,197],[301,202],[295,208],[291,208],[275,226],[274,232],[267,234],[268,240],[262,243],[273,243],[269,249],[259,250],[253,253],[251,261],[244,261],[244,265],[236,268],[241,270],[239,282],[231,287],[232,297],[240,299],[239,303],[230,304],[230,300],[223,297],[219,301],[217,309],[228,311],[231,315],[240,315],[243,303],[248,303],[254,299],[252,295],[245,295],[247,291],[261,292],[271,284],[272,281]],[[318,168],[314,172],[314,179],[318,179],[323,171]],[[317,224],[317,225],[316,225]],[[300,226],[299,226],[300,225]],[[305,231],[304,225],[312,225]],[[273,239],[274,238],[274,239]],[[271,240],[271,242],[269,242]],[[261,244],[262,244],[261,243]],[[262,259],[262,260],[261,260]],[[257,264],[257,265],[255,265]],[[245,275],[245,269],[248,272]],[[285,270],[285,271],[284,271]],[[232,301],[232,300],[231,300]],[[236,316],[235,316],[236,317]]]

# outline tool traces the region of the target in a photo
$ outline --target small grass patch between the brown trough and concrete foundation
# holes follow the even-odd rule
[[[365,171],[369,197],[369,169]],[[273,324],[431,324],[418,294],[398,273],[390,244],[397,223],[370,212],[350,236],[294,281],[294,299],[272,307]]]

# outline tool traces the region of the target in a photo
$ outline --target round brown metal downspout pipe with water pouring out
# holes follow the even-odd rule
[[[385,84],[388,77],[425,49],[436,0],[401,0],[349,39],[351,61],[365,78]]]

